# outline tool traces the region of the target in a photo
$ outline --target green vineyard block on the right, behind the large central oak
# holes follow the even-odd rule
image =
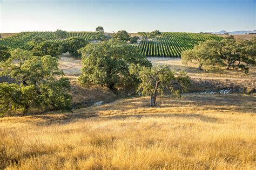
[[[142,37],[139,48],[145,56],[180,56],[181,52],[192,49],[199,41],[221,40],[210,34],[162,32],[156,38],[148,39],[150,32],[138,32]]]

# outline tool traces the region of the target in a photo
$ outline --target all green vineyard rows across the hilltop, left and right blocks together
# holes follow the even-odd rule
[[[133,44],[142,50],[145,56],[180,56],[181,52],[191,49],[199,41],[221,40],[222,37],[211,34],[183,33],[183,32],[162,32],[160,36],[149,39],[150,32],[138,32],[140,42]],[[69,37],[83,37],[90,41],[95,32],[68,32]],[[58,42],[53,32],[21,32],[14,36],[0,39],[0,45],[9,48],[32,49],[31,40],[33,37],[43,37],[46,40]]]

